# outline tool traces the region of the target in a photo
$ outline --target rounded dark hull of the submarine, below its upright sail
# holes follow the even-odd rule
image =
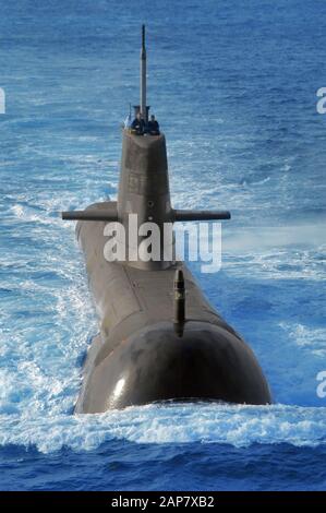
[[[92,208],[106,208],[106,203]],[[106,223],[77,224],[100,333],[90,345],[75,413],[167,399],[271,402],[250,347],[216,312],[182,262],[145,271],[104,258]],[[173,278],[183,271],[186,321],[173,319]]]

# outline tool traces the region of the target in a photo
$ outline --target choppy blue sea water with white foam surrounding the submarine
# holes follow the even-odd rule
[[[0,7],[0,489],[325,490],[325,2]],[[58,213],[117,194],[144,22],[173,203],[232,212],[221,271],[191,267],[273,406],[71,415],[98,325]]]

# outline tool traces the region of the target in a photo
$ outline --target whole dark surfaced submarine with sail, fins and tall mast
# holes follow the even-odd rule
[[[135,112],[147,121],[144,26],[142,39],[141,102]],[[131,214],[137,215],[136,225]],[[76,237],[100,318],[75,413],[168,399],[271,402],[253,351],[209,305],[184,262],[176,259],[174,240],[172,248],[162,240],[157,260],[140,258],[144,236],[138,227],[144,223],[155,223],[162,234],[167,223],[230,218],[229,212],[171,206],[162,133],[138,135],[123,129],[118,201],[63,212],[62,218],[79,222]],[[128,251],[122,261],[105,258],[110,240],[105,234],[112,223],[125,229]],[[166,250],[171,250],[170,259],[165,258]]]

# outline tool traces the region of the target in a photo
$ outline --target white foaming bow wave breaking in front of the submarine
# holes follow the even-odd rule
[[[0,444],[34,445],[43,453],[68,446],[90,451],[110,440],[142,444],[326,444],[326,408],[152,404],[97,415],[1,416]]]

